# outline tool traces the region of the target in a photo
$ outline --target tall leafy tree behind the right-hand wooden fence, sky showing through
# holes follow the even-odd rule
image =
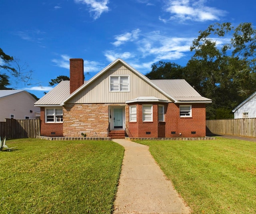
[[[208,118],[217,119],[218,108],[231,111],[256,91],[256,30],[251,23],[236,28],[231,23],[210,25],[190,50],[195,54],[186,65],[187,76],[197,72],[198,91],[212,99]]]

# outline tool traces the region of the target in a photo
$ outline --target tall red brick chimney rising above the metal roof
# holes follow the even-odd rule
[[[84,84],[84,60],[70,59],[70,93]]]

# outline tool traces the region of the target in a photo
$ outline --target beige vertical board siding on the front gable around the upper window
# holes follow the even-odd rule
[[[110,92],[111,75],[129,75],[130,91]],[[154,96],[171,102],[163,93],[119,62],[110,67],[110,69],[100,75],[80,93],[72,97],[67,103],[125,103],[125,101],[136,97],[147,96]]]

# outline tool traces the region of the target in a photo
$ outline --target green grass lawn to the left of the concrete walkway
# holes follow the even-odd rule
[[[124,148],[112,141],[6,141],[1,214],[112,213]]]

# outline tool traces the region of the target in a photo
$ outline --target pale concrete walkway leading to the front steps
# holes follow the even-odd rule
[[[113,141],[125,149],[114,214],[190,213],[147,146],[125,139]]]

